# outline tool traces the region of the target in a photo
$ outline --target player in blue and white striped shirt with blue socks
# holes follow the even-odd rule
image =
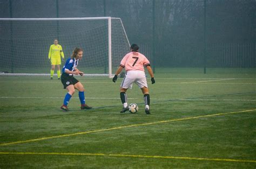
[[[68,90],[64,98],[64,102],[60,109],[68,111],[68,103],[72,95],[75,93],[75,89],[79,91],[79,99],[81,102],[81,109],[91,109],[87,104],[85,104],[85,97],[84,97],[84,86],[80,83],[76,78],[74,78],[74,74],[83,76],[84,73],[80,72],[77,69],[78,61],[81,60],[83,57],[83,50],[81,48],[75,48],[73,50],[71,58],[66,60],[65,66],[62,68],[62,84],[64,89]]]

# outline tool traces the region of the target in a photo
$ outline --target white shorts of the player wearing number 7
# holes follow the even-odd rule
[[[147,80],[144,71],[127,71],[122,83],[122,88],[132,88],[132,83],[136,83],[139,88],[146,87],[147,88]]]

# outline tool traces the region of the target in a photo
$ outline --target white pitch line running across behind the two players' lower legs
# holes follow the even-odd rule
[[[64,98],[64,97],[11,97],[11,96],[0,96],[0,98]],[[72,97],[72,98],[79,98],[79,97]],[[86,99],[103,99],[103,100],[119,100],[118,97],[86,97]],[[132,98],[129,97],[129,99],[132,100],[142,100],[142,98]],[[215,99],[215,98],[150,98],[151,100],[163,100],[163,101],[256,101],[256,100],[246,100],[246,99]]]

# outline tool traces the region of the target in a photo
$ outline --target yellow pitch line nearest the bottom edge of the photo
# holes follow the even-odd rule
[[[5,155],[58,155],[58,156],[109,156],[109,157],[131,157],[131,158],[162,158],[179,160],[204,160],[204,161],[226,161],[239,163],[256,163],[256,160],[243,159],[221,159],[221,158],[197,158],[197,157],[177,157],[177,156],[147,156],[132,154],[103,154],[103,153],[58,153],[58,152],[0,152]]]

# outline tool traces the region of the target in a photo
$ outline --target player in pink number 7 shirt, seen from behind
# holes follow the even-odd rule
[[[154,74],[150,67],[149,60],[147,60],[147,58],[142,53],[139,53],[138,50],[139,50],[138,45],[136,44],[131,45],[131,52],[127,53],[122,59],[122,61],[120,62],[120,66],[117,69],[117,72],[114,75],[114,78],[112,79],[112,81],[116,82],[117,75],[120,72],[122,72],[123,68],[125,68],[126,75],[120,86],[120,98],[124,108],[120,112],[125,112],[129,110],[128,103],[127,103],[127,96],[125,92],[128,88],[132,88],[132,84],[134,82],[136,83],[136,85],[139,86],[140,89],[142,89],[142,93],[144,95],[144,101],[145,101],[145,112],[146,114],[150,114],[150,110],[149,110],[150,95],[149,95],[149,89],[147,88],[147,80],[144,72],[144,66],[146,66],[147,71],[151,76],[152,84],[155,83]]]

